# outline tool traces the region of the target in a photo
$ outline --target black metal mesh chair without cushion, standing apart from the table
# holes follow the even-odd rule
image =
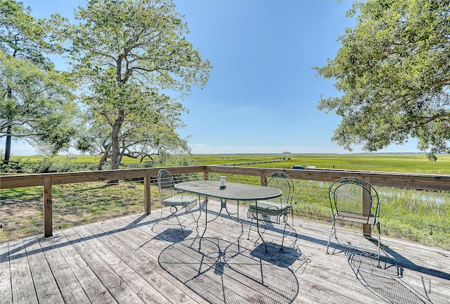
[[[380,199],[378,193],[364,179],[357,177],[342,177],[329,189],[331,211],[333,213],[333,225],[326,246],[330,246],[331,236],[336,235],[336,222],[346,221],[360,224],[371,224],[378,229],[378,267],[380,267]]]

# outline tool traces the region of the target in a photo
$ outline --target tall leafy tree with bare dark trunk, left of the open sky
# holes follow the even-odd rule
[[[81,22],[65,23],[62,34],[86,89],[82,100],[110,128],[111,165],[117,169],[129,130],[136,139],[145,134],[138,126],[148,132],[162,122],[167,129],[182,125],[186,109],[163,91],[184,96],[191,85],[203,87],[211,65],[186,40],[188,27],[171,0],[88,0],[75,19]]]

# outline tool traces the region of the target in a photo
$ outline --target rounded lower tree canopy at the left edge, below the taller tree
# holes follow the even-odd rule
[[[51,153],[67,149],[75,134],[77,106],[65,77],[52,68],[41,70],[31,61],[0,51],[0,136],[9,134]]]

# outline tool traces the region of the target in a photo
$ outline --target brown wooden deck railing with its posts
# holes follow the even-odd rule
[[[124,170],[105,170],[89,172],[46,173],[34,175],[4,175],[0,177],[0,189],[20,188],[27,186],[44,187],[44,236],[53,234],[52,186],[79,182],[98,182],[108,180],[143,178],[145,213],[150,214],[151,181],[158,175],[160,167]],[[173,175],[203,172],[208,179],[209,173],[248,175],[264,178],[274,171],[286,172],[292,179],[333,182],[340,177],[352,176],[366,180],[373,186],[393,186],[404,189],[420,189],[432,191],[450,191],[450,175],[424,175],[395,172],[369,172],[356,170],[293,170],[258,167],[230,167],[224,165],[196,165],[185,167],[166,167]],[[364,233],[370,232],[364,227]]]

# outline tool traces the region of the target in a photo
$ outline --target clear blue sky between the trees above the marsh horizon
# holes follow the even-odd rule
[[[353,19],[350,0],[175,0],[188,41],[213,68],[204,89],[184,99],[181,137],[192,153],[348,153],[330,141],[340,118],[321,112],[321,96],[340,94],[312,68],[326,65]],[[32,15],[72,18],[82,0],[25,0]],[[0,143],[0,149],[4,143]],[[380,152],[417,152],[416,141]],[[360,153],[358,146],[354,153]],[[13,155],[34,149],[13,142]]]

